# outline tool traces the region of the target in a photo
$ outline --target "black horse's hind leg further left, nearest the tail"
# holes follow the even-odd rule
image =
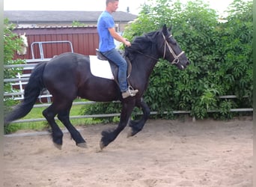
[[[46,120],[52,128],[52,141],[55,147],[61,150],[63,132],[61,132],[58,124],[55,122],[54,117],[56,114],[57,113],[53,110],[53,105],[50,105],[43,111],[43,116],[46,117]]]

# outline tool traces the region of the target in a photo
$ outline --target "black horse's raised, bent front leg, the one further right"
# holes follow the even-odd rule
[[[137,134],[138,132],[141,131],[141,129],[143,129],[144,124],[146,123],[148,117],[150,116],[150,108],[148,107],[148,105],[143,101],[143,99],[138,99],[136,100],[135,105],[138,108],[142,108],[143,111],[143,116],[141,117],[140,120],[130,120],[129,121],[129,126],[131,127],[129,133],[128,133],[128,137],[129,136],[133,136],[135,134]]]

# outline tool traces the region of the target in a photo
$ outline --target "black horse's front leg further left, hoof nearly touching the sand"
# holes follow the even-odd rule
[[[123,102],[123,107],[120,116],[120,122],[118,123],[118,127],[116,129],[109,129],[101,132],[102,138],[100,140],[100,149],[102,150],[104,147],[108,146],[115,138],[118,137],[119,133],[127,126],[129,121],[129,117],[132,114],[132,110],[135,107],[135,99],[127,98],[125,102]]]

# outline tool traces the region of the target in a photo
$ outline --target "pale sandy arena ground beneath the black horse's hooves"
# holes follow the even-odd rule
[[[4,186],[252,186],[252,117],[149,120],[100,152],[100,132],[113,126],[79,126],[87,149],[68,133],[62,150],[49,135],[4,137]]]

